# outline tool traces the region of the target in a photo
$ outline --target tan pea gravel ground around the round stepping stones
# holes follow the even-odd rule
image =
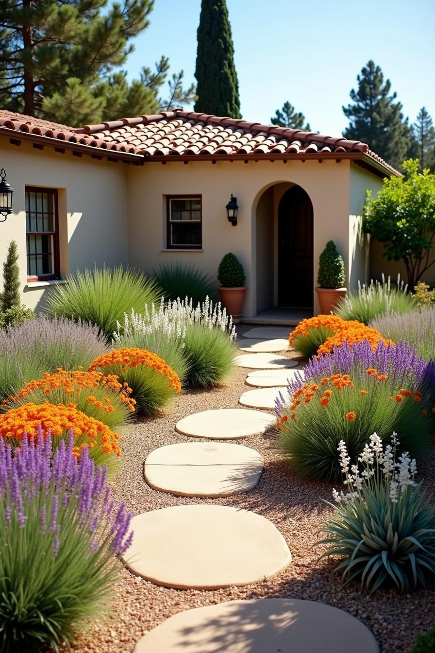
[[[240,327],[239,336],[247,329]],[[293,352],[286,356],[297,358]],[[295,477],[284,456],[275,449],[270,435],[238,441],[259,451],[265,460],[260,483],[246,494],[222,499],[184,498],[151,490],[143,481],[143,462],[153,449],[197,441],[175,433],[174,426],[179,419],[206,409],[239,407],[239,396],[248,389],[245,377],[249,371],[237,368],[225,387],[188,392],[177,398],[167,414],[132,424],[123,437],[123,469],[113,482],[113,490],[135,514],[192,503],[219,503],[252,510],[267,517],[280,530],[292,552],[292,564],[268,581],[214,591],[171,590],[123,569],[114,588],[111,616],[106,621],[91,624],[87,634],[73,647],[77,653],[130,653],[142,635],[172,614],[235,599],[292,597],[333,605],[366,624],[378,639],[382,653],[409,652],[415,632],[435,628],[435,586],[413,594],[398,595],[394,590],[384,590],[370,596],[357,584],[342,588],[340,576],[333,574],[336,561],[322,560],[316,565],[324,549],[312,547],[318,539],[322,518],[331,511],[322,498],[330,500],[333,486]],[[428,492],[435,494],[434,466],[435,446],[418,466],[418,479],[425,479]],[[173,554],[177,556],[176,534]],[[349,645],[352,648],[352,643]]]

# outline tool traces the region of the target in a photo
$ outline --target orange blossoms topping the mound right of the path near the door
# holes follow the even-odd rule
[[[376,349],[380,340],[385,347],[388,344],[394,345],[392,340],[382,338],[378,330],[366,327],[357,320],[344,320],[338,315],[316,315],[316,317],[302,320],[289,336],[290,345],[296,336],[307,336],[310,329],[320,327],[333,331],[333,335],[320,345],[317,350],[318,355],[327,354],[333,350],[333,347],[339,347],[344,342],[348,342],[348,345],[352,347],[353,343],[368,340],[373,350]]]

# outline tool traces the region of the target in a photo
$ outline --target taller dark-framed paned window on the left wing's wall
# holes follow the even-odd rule
[[[59,278],[59,220],[57,191],[25,189],[27,278],[29,281]]]

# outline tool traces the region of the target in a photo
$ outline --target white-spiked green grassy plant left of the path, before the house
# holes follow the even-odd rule
[[[145,306],[143,315],[132,310],[117,323],[115,347],[154,351],[190,387],[209,387],[224,381],[237,352],[231,315],[209,298],[194,307],[192,299]]]

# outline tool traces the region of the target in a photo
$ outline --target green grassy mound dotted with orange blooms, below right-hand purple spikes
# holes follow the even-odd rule
[[[431,424],[422,400],[412,374],[398,379],[356,361],[350,374],[294,383],[288,400],[284,394],[277,399],[277,444],[297,473],[338,480],[340,440],[352,460],[363,451],[367,433],[385,438],[396,430],[412,456],[428,445]]]

